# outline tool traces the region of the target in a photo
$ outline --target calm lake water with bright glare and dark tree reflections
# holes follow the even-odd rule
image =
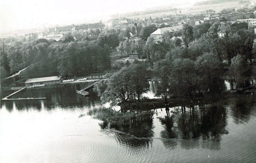
[[[156,109],[152,119],[118,129],[79,117],[102,104],[74,86],[12,98],[22,97],[47,99],[1,101],[0,162],[256,162],[255,96],[243,105]]]

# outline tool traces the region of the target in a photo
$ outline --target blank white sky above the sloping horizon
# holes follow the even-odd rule
[[[0,30],[75,23],[95,16],[140,11],[184,1],[187,0],[1,0]]]

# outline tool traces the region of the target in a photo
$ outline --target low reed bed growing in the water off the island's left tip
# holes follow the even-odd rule
[[[110,123],[110,126],[123,126],[127,127],[133,123],[142,123],[147,120],[151,120],[154,111],[142,111],[142,112],[126,112],[120,113],[114,111],[111,108],[93,108],[90,109],[87,115],[93,116],[94,119],[102,120]]]

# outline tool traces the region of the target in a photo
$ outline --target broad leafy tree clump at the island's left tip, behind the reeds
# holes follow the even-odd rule
[[[116,73],[108,74],[107,79],[97,82],[93,89],[102,102],[110,102],[112,106],[120,105],[122,109],[127,109],[148,90],[146,72],[144,64],[132,64]]]

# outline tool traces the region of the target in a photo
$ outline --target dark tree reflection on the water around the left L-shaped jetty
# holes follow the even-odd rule
[[[74,109],[74,107],[84,107],[84,105],[89,105],[95,107],[99,104],[99,97],[96,95],[81,97],[76,93],[75,85],[64,85],[64,86],[51,86],[50,88],[35,88],[23,90],[10,98],[31,98],[31,97],[46,97],[43,100],[44,109],[52,110],[56,107],[61,107],[63,109]],[[92,90],[90,90],[91,92]],[[5,91],[3,95],[7,96],[13,91]],[[6,105],[7,110],[12,111],[13,103],[15,104],[17,110],[24,111],[28,109],[36,109],[41,111],[41,101],[42,100],[24,100],[24,101],[5,101],[1,102],[1,107],[3,104]]]

